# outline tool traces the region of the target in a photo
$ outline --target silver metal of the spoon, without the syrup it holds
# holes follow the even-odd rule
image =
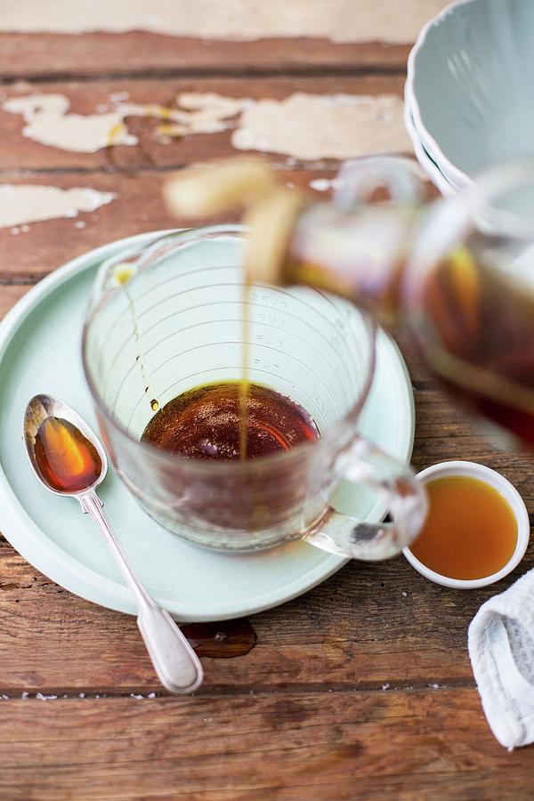
[[[60,417],[75,425],[96,450],[101,459],[101,473],[82,490],[62,491],[55,489],[42,473],[36,460],[36,433],[47,417]],[[108,472],[108,458],[101,446],[101,441],[93,430],[85,423],[74,409],[66,403],[52,398],[50,395],[36,395],[29,401],[24,415],[24,441],[28,451],[30,464],[44,487],[54,495],[76,498],[82,511],[90,514],[108,543],[109,550],[115,556],[122,570],[126,584],[132,590],[137,602],[137,625],[149,651],[152,664],[156,668],[159,681],[169,692],[182,694],[197,690],[204,679],[202,665],[187,639],[174,623],[169,613],[161,609],[153,601],[141,579],[128,561],[115,532],[102,511],[101,499],[95,490]]]

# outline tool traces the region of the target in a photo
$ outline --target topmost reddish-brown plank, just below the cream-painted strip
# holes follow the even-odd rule
[[[146,31],[106,33],[0,34],[0,72],[5,79],[77,74],[120,77],[141,73],[208,74],[343,72],[403,69],[410,44],[334,44],[326,39],[203,41]]]

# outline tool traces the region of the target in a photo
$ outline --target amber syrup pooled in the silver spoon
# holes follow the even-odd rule
[[[102,463],[93,444],[69,420],[46,417],[36,433],[36,463],[53,490],[78,492],[101,474]]]

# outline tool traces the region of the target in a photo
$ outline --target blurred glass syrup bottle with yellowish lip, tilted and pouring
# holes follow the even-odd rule
[[[534,445],[534,160],[428,206],[408,159],[347,163],[336,184],[312,202],[236,159],[167,197],[182,214],[244,203],[252,281],[322,288],[408,329],[451,392]]]

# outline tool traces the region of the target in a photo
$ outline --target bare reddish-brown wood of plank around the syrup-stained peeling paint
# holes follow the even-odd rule
[[[90,82],[60,82],[4,87],[4,99],[25,93],[61,93],[69,98],[70,110],[79,114],[95,113],[98,106],[113,103],[110,95],[127,93],[128,102],[155,103],[175,108],[181,92],[220,93],[236,98],[283,99],[294,92],[312,94],[396,94],[401,96],[402,76],[364,75],[356,77],[239,77],[120,80]],[[124,95],[125,96],[125,95]],[[182,166],[196,161],[228,156],[236,151],[231,147],[231,131],[219,134],[195,134],[163,143],[155,130],[161,120],[129,117],[128,128],[140,139],[140,144],[116,146],[96,153],[73,153],[32,142],[22,135],[24,122],[18,114],[0,109],[0,170],[30,169],[140,169],[142,167]],[[286,158],[276,156],[271,161],[284,165]],[[4,179],[2,179],[4,180]]]

